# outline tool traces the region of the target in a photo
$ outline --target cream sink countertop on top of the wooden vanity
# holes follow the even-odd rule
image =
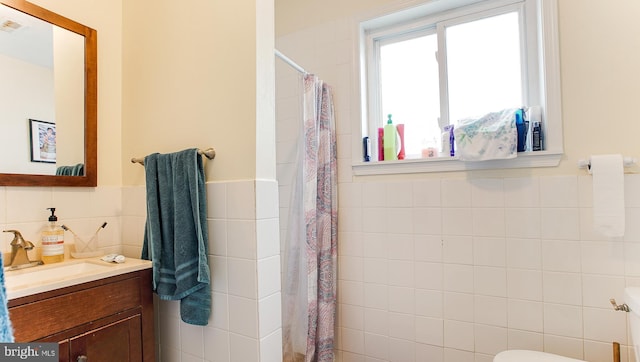
[[[126,258],[124,263],[117,264],[97,257],[5,270],[7,300],[149,268],[149,260]]]

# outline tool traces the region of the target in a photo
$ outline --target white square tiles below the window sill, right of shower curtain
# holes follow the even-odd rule
[[[344,232],[362,258],[342,253],[340,265],[350,278],[362,265],[365,283],[363,299],[355,297],[361,284],[341,288],[350,300],[341,319],[355,334],[345,314],[364,304],[369,348],[343,350],[349,358],[392,361],[399,346],[413,345],[409,360],[491,361],[507,348],[598,360],[612,338],[629,351],[625,317],[611,314],[609,298],[622,300],[627,279],[640,277],[640,226],[629,221],[640,208],[627,207],[627,241],[610,241],[592,232],[590,178],[429,179],[398,191],[406,185],[350,186],[368,205],[349,201],[363,227]],[[385,192],[394,196],[365,201]],[[401,328],[411,323],[415,334]]]

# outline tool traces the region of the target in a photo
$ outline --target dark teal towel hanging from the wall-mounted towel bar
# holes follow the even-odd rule
[[[153,290],[180,300],[180,317],[207,325],[211,287],[207,261],[207,207],[202,158],[197,149],[144,159],[147,222],[142,259],[151,260]]]

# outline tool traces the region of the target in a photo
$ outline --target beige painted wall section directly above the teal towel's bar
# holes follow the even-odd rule
[[[123,184],[132,156],[214,147],[207,180],[256,176],[256,2],[124,3]],[[275,168],[275,162],[274,166]]]

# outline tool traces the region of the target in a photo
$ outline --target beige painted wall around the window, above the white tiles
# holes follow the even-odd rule
[[[364,19],[397,4],[417,1],[277,0],[276,34],[297,33],[335,20]],[[640,158],[640,122],[633,105],[640,99],[640,13],[635,0],[560,0],[559,32],[564,157],[554,168],[474,171],[469,177],[582,174],[579,159],[621,153]],[[393,5],[393,6],[392,6]],[[311,71],[314,71],[313,69]],[[355,129],[355,128],[353,128]],[[635,170],[640,169],[638,166]],[[438,177],[438,175],[431,175]],[[442,175],[440,175],[442,176]],[[451,175],[449,175],[451,176]],[[403,176],[415,177],[414,175]]]

